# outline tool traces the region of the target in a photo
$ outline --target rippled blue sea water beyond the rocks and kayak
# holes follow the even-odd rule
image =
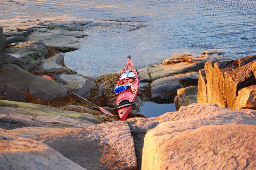
[[[66,53],[66,66],[86,75],[123,69],[127,49],[137,68],[161,62],[173,51],[198,54],[222,48],[232,58],[256,54],[255,0],[2,0],[0,18],[99,19],[144,26],[133,31],[99,28],[84,38],[81,49]]]

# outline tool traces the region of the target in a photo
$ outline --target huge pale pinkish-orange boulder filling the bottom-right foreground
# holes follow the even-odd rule
[[[158,124],[156,128],[151,129],[145,135],[142,169],[192,169],[192,167],[195,169],[211,169],[215,167],[216,162],[220,162],[216,165],[219,168],[222,167],[222,164],[223,167],[227,166],[228,169],[238,166],[241,169],[247,166],[255,166],[256,160],[253,158],[254,153],[252,153],[254,151],[249,151],[254,150],[255,147],[252,144],[252,141],[255,140],[253,134],[256,127],[256,120],[252,116],[254,112],[230,110],[217,107],[214,104],[190,104],[180,107],[178,112],[166,114],[158,117],[158,122],[159,119],[166,116],[168,116],[169,121]],[[143,127],[149,125],[145,122],[141,123],[145,124]],[[227,125],[216,128],[207,127],[220,124]],[[227,130],[229,128],[230,131]],[[191,131],[194,129],[197,130]],[[217,135],[218,133],[220,134]],[[211,135],[211,137],[206,134]],[[206,140],[204,140],[204,137],[206,137]],[[187,139],[185,140],[185,138]],[[248,142],[245,142],[247,139]],[[172,147],[172,145],[179,147]],[[180,147],[182,149],[179,150]],[[198,151],[197,155],[195,150]],[[203,157],[202,159],[198,158],[200,155]],[[238,157],[239,155],[241,157]],[[204,158],[211,158],[212,162]],[[200,161],[198,161],[199,159]],[[247,161],[245,161],[246,159]]]

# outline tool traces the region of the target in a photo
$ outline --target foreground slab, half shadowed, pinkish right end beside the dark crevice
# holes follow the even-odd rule
[[[137,169],[133,138],[127,121],[61,129],[32,139],[46,143],[87,169]]]

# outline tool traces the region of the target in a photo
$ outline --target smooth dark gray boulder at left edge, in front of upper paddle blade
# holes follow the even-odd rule
[[[1,84],[11,85],[12,89],[16,88],[29,90],[29,93],[34,97],[41,97],[42,99],[53,100],[55,97],[67,97],[67,91],[62,86],[54,81],[28,73],[26,70],[14,64],[2,64],[0,68],[0,82]],[[10,86],[10,87],[11,87]],[[14,93],[8,89],[2,89],[1,94],[4,97],[11,97],[13,101],[26,101],[27,97],[23,92]],[[22,94],[22,96],[20,96]]]

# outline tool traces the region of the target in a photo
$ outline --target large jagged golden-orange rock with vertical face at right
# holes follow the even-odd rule
[[[238,91],[256,84],[255,75],[252,71],[252,65],[256,61],[256,56],[248,56],[231,61],[208,61],[205,66],[206,86],[205,81],[200,81],[202,90],[199,93],[206,91],[206,96],[198,95],[198,101],[213,102],[221,107],[231,109],[248,108],[247,106],[236,107]],[[203,77],[203,74],[200,76]],[[205,78],[205,77],[204,77]],[[202,79],[204,79],[202,78]],[[206,89],[204,88],[206,87]],[[240,100],[241,97],[237,98]]]

